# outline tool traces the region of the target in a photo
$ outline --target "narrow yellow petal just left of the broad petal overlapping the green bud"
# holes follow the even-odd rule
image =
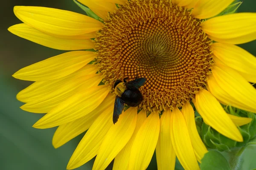
[[[198,130],[195,126],[195,112],[189,103],[183,105],[181,112],[185,118],[186,125],[189,130],[189,136],[195,151],[195,156],[197,160],[201,163],[201,159],[204,157],[204,154],[207,153],[207,149],[202,142],[198,134]]]

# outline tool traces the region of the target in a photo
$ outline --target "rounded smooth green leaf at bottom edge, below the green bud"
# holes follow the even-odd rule
[[[224,156],[217,151],[209,151],[204,155],[201,170],[231,170]]]

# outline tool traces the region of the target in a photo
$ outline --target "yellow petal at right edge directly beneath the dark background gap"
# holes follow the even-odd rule
[[[213,54],[225,65],[239,71],[241,76],[248,75],[247,81],[256,83],[256,57],[239,46],[224,43],[211,45]],[[217,61],[215,61],[217,62]],[[217,63],[218,64],[218,63]]]

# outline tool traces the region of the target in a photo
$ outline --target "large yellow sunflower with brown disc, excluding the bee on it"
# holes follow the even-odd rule
[[[256,112],[256,58],[236,46],[256,39],[256,14],[217,16],[234,0],[78,0],[96,19],[54,8],[15,6],[23,22],[13,34],[64,54],[17,71],[34,81],[20,91],[20,108],[47,113],[35,128],[57,127],[55,148],[85,133],[70,158],[74,169],[96,156],[93,170],[145,170],[156,150],[159,170],[176,156],[199,169],[207,149],[195,111],[219,133],[242,142],[249,118],[221,104]],[[94,49],[94,50],[87,50]],[[114,79],[146,79],[143,102],[113,124]],[[195,107],[194,107],[195,106]]]

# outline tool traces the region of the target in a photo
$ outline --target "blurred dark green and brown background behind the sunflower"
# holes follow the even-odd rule
[[[31,82],[12,77],[20,68],[64,51],[38,45],[7,31],[9,26],[21,23],[13,14],[14,6],[45,6],[85,13],[73,0],[6,0],[0,6],[0,170],[65,170],[84,134],[54,149],[51,140],[55,128],[32,128],[43,114],[22,111],[19,108],[22,103],[15,98]],[[256,0],[244,0],[238,11],[256,12]],[[256,41],[240,46],[256,55]],[[92,164],[93,160],[78,170],[90,170]],[[176,168],[181,169],[179,164]],[[253,168],[256,168],[256,147],[251,145],[244,153],[241,170]],[[111,165],[107,169],[111,169]],[[154,156],[148,170],[156,169]]]

